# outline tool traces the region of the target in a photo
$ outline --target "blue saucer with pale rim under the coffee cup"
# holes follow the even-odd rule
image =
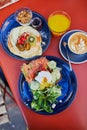
[[[67,55],[66,55],[66,48],[64,47],[63,42],[67,43],[68,42],[68,38],[70,37],[70,35],[72,35],[75,32],[86,33],[86,32],[84,32],[82,30],[71,30],[71,31],[65,33],[62,36],[62,38],[60,39],[59,50],[60,50],[60,53],[61,53],[61,55],[63,56],[63,58],[65,60],[68,60],[68,59],[67,59]],[[74,64],[80,64],[80,63],[83,63],[83,62],[87,62],[87,53],[85,53],[85,54],[74,54],[73,52],[71,52],[69,50],[69,48],[68,48],[68,52],[69,52],[69,57],[70,57],[70,60],[71,60],[72,63],[74,63]]]

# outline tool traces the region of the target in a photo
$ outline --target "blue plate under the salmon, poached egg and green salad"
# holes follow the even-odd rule
[[[53,57],[53,56],[46,56],[48,60],[54,60],[57,63],[57,66],[62,68],[61,69],[61,74],[62,78],[58,82],[58,84],[62,87],[62,96],[60,96],[57,100],[58,103],[56,107],[53,109],[52,113],[47,113],[45,111],[35,111],[31,108],[31,92],[29,87],[26,86],[26,89],[23,89],[23,83],[25,82],[25,78],[23,74],[20,74],[19,77],[19,93],[21,96],[22,101],[24,104],[31,110],[39,113],[39,114],[44,114],[44,115],[52,115],[52,114],[57,114],[59,112],[62,112],[65,110],[73,101],[76,95],[77,91],[77,80],[74,71],[70,71],[70,68],[66,62],[63,60]],[[28,91],[28,93],[26,93]],[[25,94],[26,93],[26,94]],[[28,100],[29,97],[29,100]]]

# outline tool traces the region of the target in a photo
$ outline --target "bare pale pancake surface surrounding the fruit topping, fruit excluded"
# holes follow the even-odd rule
[[[29,48],[29,50],[20,51],[17,47],[18,39],[24,33],[28,34],[29,36],[34,36],[35,42]],[[37,55],[42,54],[42,47],[41,47],[42,38],[40,33],[32,28],[31,26],[19,26],[13,28],[8,36],[8,48],[9,50],[22,58],[31,58]]]

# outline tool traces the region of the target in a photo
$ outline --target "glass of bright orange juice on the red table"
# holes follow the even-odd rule
[[[71,25],[71,18],[65,11],[55,11],[48,17],[48,26],[51,32],[60,36],[64,34]]]

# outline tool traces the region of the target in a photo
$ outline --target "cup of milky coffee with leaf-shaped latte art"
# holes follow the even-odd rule
[[[68,39],[68,47],[75,54],[87,52],[87,34],[85,32],[75,32]]]

